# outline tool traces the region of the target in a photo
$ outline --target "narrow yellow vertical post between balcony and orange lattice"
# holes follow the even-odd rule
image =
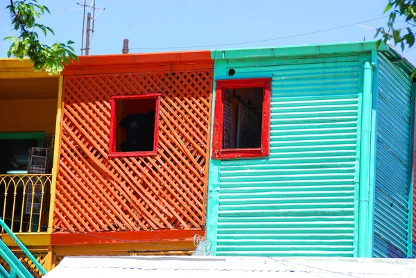
[[[64,85],[64,79],[59,76],[58,84],[58,109],[56,111],[56,124],[55,124],[55,144],[53,146],[53,166],[52,166],[52,182],[51,182],[51,202],[49,206],[49,221],[48,232],[52,232],[53,227],[53,209],[55,208],[55,189],[56,189],[56,176],[58,175],[59,167],[59,154],[60,154],[60,122],[61,122],[61,105],[62,105],[62,90]]]

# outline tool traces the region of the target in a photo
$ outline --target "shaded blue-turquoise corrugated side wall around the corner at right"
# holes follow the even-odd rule
[[[407,257],[410,191],[410,78],[379,55],[374,257]]]

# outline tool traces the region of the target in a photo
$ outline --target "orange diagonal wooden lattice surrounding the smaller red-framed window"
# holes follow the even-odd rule
[[[53,225],[63,232],[204,225],[212,72],[64,78]],[[159,151],[108,157],[110,99],[162,93]]]

